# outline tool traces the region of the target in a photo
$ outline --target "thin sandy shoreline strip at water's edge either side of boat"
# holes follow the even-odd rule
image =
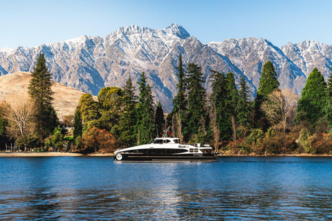
[[[61,153],[61,152],[0,152],[0,157],[113,157],[113,153]],[[216,157],[332,157],[332,154],[219,154]]]

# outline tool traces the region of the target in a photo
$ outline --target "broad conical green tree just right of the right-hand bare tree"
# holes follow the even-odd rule
[[[326,104],[326,83],[323,75],[317,68],[308,76],[306,86],[304,86],[297,110],[295,122],[303,120],[310,122],[313,126],[324,117],[324,108]]]

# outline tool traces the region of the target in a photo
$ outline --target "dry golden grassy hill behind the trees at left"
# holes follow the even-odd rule
[[[17,96],[28,95],[30,77],[31,73],[27,72],[0,76],[0,102],[3,100],[10,101]],[[57,117],[62,118],[65,115],[73,115],[80,97],[84,93],[56,82],[53,84],[52,90],[54,92],[53,106],[55,111],[57,111]]]

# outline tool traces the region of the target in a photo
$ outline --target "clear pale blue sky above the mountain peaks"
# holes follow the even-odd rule
[[[314,39],[332,45],[332,1],[0,0],[0,48],[38,46],[119,27],[178,23],[203,44],[262,37],[275,46]]]

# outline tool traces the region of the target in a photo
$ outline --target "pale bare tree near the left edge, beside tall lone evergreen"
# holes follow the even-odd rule
[[[1,106],[3,118],[8,121],[9,126],[6,127],[6,132],[9,137],[15,140],[24,140],[35,133],[33,116],[36,109],[30,99],[15,97],[10,102],[3,102]]]

